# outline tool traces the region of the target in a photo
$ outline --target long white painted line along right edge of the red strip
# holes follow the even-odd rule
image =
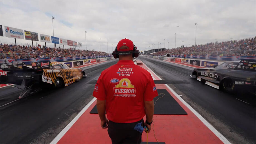
[[[145,64],[145,63],[144,63]],[[147,65],[145,64],[147,67]],[[149,67],[147,67],[150,71],[152,71]],[[152,73],[154,73],[152,71]],[[155,74],[155,73],[154,73]],[[156,74],[155,74],[156,75]],[[157,76],[157,75],[156,75]],[[162,80],[159,76],[157,76],[160,80]],[[170,86],[164,84],[194,115],[196,115],[202,123],[207,126],[223,143],[231,144],[230,141],[227,140],[218,130],[216,130],[208,121],[203,118],[195,109],[193,109],[186,101],[184,101]]]

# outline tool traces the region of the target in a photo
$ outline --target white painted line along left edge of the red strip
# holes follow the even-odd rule
[[[73,118],[72,121],[51,141],[50,144],[56,144],[58,141],[67,133],[67,131],[73,126],[73,124],[82,116],[82,114],[92,105],[92,103],[96,100],[93,98],[78,114]]]

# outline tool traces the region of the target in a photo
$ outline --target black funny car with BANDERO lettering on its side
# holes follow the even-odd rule
[[[232,91],[245,88],[255,93],[256,60],[227,61],[213,68],[196,68],[193,78],[214,88]]]

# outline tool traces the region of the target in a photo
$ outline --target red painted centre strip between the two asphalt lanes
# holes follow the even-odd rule
[[[150,71],[145,64],[141,65]],[[159,80],[151,72],[154,80]],[[223,143],[204,123],[190,111],[164,84],[156,84],[157,89],[166,89],[188,115],[154,115],[152,127],[159,142],[165,143]],[[98,114],[90,114],[96,101],[78,118],[58,143],[111,143],[107,129],[100,127]],[[144,117],[145,120],[145,117]],[[147,140],[145,132],[142,141]],[[156,142],[153,129],[149,142]]]

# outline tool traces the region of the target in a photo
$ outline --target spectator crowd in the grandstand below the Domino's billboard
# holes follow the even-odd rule
[[[51,57],[73,57],[73,56],[108,56],[103,51],[78,50],[73,48],[50,48],[38,44],[38,46],[21,46],[13,44],[0,44],[0,59],[22,59],[22,58],[51,58]]]

